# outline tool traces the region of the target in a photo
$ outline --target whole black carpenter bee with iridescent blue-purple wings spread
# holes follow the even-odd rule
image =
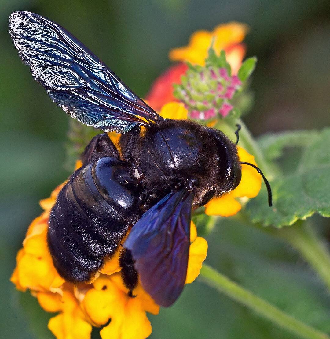
[[[236,144],[192,120],[163,119],[48,19],[14,12],[9,25],[23,62],[58,106],[88,126],[122,134],[120,153],[107,133],[94,137],[83,166],[58,194],[48,229],[57,271],[73,283],[87,282],[122,245],[129,295],[139,280],[158,304],[172,305],[186,280],[192,208],[241,180]]]

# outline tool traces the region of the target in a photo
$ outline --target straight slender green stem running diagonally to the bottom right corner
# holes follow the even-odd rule
[[[303,322],[294,319],[279,308],[268,303],[267,301],[255,296],[245,288],[220,274],[214,268],[203,264],[200,276],[211,287],[216,288],[218,292],[224,293],[228,297],[249,307],[264,318],[274,322],[278,326],[306,339],[329,339],[325,333],[317,331]]]

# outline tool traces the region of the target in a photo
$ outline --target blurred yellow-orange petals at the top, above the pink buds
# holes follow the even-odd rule
[[[241,42],[247,31],[248,26],[238,22],[219,25],[212,32],[197,31],[190,37],[188,46],[172,49],[169,58],[204,66],[208,49],[214,39],[216,53],[219,54],[224,49],[233,74],[237,74],[245,55],[245,46]]]

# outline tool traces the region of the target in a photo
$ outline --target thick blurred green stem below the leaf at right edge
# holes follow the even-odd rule
[[[277,235],[299,251],[330,291],[330,254],[311,226],[306,221],[299,221],[291,227],[278,230]]]

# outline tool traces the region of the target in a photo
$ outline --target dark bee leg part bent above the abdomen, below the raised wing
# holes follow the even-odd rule
[[[83,165],[103,157],[119,159],[119,152],[107,133],[98,134],[86,146],[80,159]]]

